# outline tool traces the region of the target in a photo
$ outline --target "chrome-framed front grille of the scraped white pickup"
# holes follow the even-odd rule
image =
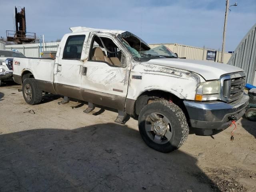
[[[232,102],[244,93],[245,73],[228,74],[221,78],[221,100]]]

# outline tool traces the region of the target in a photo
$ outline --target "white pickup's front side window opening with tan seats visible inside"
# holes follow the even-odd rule
[[[112,39],[94,36],[90,49],[90,60],[105,62],[110,66],[121,66],[122,52]]]

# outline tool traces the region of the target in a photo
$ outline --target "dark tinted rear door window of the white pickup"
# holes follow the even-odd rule
[[[64,47],[62,59],[80,59],[85,35],[69,36]]]

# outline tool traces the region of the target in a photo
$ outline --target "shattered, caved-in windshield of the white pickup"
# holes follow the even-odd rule
[[[150,48],[146,42],[128,31],[118,34],[118,38],[132,54],[135,60],[146,61],[156,58],[178,58],[166,46],[160,45]]]

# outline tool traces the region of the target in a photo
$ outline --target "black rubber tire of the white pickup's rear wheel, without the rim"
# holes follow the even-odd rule
[[[30,85],[31,92],[32,92],[32,97],[30,100],[28,100],[25,96],[25,86],[27,84]],[[23,97],[27,104],[35,105],[42,101],[43,92],[42,92],[42,90],[40,90],[40,88],[36,84],[36,80],[34,78],[27,78],[24,80],[24,82],[22,84],[22,93],[23,93]]]

